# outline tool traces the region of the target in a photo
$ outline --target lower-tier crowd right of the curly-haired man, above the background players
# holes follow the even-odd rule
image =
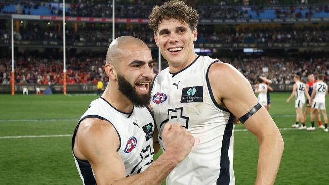
[[[256,84],[259,76],[266,76],[273,84],[293,84],[293,77],[299,74],[304,82],[307,82],[307,75],[313,73],[325,74],[325,81],[329,75],[329,59],[323,58],[300,58],[300,57],[246,57],[241,59],[223,58],[236,67],[251,84]]]

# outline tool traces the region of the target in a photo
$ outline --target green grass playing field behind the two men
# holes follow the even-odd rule
[[[279,128],[295,122],[289,94],[271,94],[270,114]],[[71,151],[77,120],[96,95],[0,95],[0,184],[81,184]],[[323,118],[322,118],[323,122]],[[309,118],[307,126],[310,126]],[[317,123],[316,123],[317,125]],[[256,178],[256,137],[234,133],[236,184],[253,184]],[[329,133],[317,129],[281,130],[284,154],[275,184],[329,184]],[[8,138],[9,136],[49,136]]]

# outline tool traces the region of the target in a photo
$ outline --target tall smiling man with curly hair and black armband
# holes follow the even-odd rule
[[[171,0],[155,6],[149,18],[156,45],[169,65],[154,77],[151,101],[162,150],[166,151],[162,132],[168,122],[180,123],[196,140],[166,183],[235,184],[236,116],[260,145],[256,184],[273,184],[284,148],[280,131],[237,69],[194,52],[197,11]]]

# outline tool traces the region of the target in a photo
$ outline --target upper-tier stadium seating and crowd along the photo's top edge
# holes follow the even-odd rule
[[[212,2],[212,6],[209,6],[209,2],[204,2],[194,5],[194,7],[199,11],[201,19],[260,18],[260,14],[264,13],[264,10],[275,10],[270,11],[270,14],[273,14],[273,16],[270,17],[276,18],[311,18],[314,13],[329,13],[327,4],[278,6],[277,2],[278,1],[265,1],[264,3],[272,6],[264,7],[262,4],[258,6],[243,4],[242,1],[241,5],[243,6],[232,6],[227,4],[226,1],[217,1]],[[119,18],[148,18],[155,3],[156,1],[148,1],[148,3],[145,3],[145,1],[141,0],[130,1],[129,4],[118,2],[115,4],[115,16]],[[4,6],[10,5],[9,2],[0,4],[0,12],[4,14],[19,13],[30,15],[31,11],[42,6],[49,9],[50,15],[61,16],[63,14],[59,4],[57,3],[57,5],[55,2],[51,4],[50,2],[21,1],[19,4],[22,7],[22,12],[2,10]],[[273,7],[273,4],[276,6]],[[105,4],[97,3],[94,0],[79,0],[70,3],[65,12],[66,16],[75,17],[112,17],[112,1],[108,1],[108,3]],[[256,15],[256,17],[252,15]]]

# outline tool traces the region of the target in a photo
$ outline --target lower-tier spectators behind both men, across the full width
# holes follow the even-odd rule
[[[17,84],[62,84],[63,62],[61,59],[20,56],[15,59],[15,81]],[[92,56],[92,55],[90,55]],[[328,57],[239,57],[220,58],[235,66],[251,84],[255,84],[260,75],[267,76],[274,84],[293,84],[295,74],[300,74],[306,80],[308,73],[325,74],[325,81],[329,75]],[[68,84],[96,84],[101,79],[107,82],[103,70],[104,57],[88,57],[88,54],[79,57],[68,57],[67,83]],[[166,62],[163,61],[163,65]],[[157,65],[154,71],[157,72]],[[10,58],[0,59],[0,84],[9,84],[11,71]]]

